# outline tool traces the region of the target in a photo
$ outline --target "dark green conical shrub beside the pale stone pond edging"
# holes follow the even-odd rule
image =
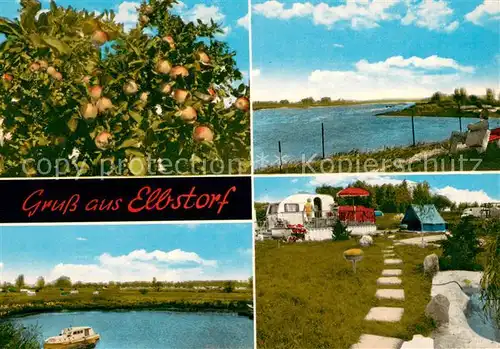
[[[442,270],[478,270],[476,262],[479,240],[476,227],[469,217],[462,219],[443,242],[443,254],[439,260]]]

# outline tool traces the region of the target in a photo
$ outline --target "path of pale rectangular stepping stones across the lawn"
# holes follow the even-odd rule
[[[397,243],[394,243],[397,245]],[[394,245],[385,247],[382,250],[384,254],[384,265],[401,266],[403,260],[397,258],[394,251]],[[401,288],[403,280],[400,278],[403,275],[402,269],[384,269],[382,275],[377,279],[377,285],[382,286],[375,293],[375,297],[381,301],[396,302],[395,306],[373,307],[365,317],[365,321],[378,321],[393,323],[401,321],[404,314],[404,308],[401,307],[401,302],[405,300],[405,291]],[[394,287],[394,288],[390,288]],[[354,344],[351,349],[399,349],[404,341],[399,338],[382,337],[373,334],[363,334],[359,338],[358,343]]]

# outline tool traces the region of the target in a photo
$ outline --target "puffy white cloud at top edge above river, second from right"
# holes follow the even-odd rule
[[[459,26],[458,21],[452,20],[453,12],[445,0],[422,0],[416,6],[409,4],[408,12],[401,23],[449,33]]]

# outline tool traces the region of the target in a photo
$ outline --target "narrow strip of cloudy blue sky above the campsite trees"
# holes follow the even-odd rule
[[[480,177],[479,177],[480,176]],[[346,187],[356,180],[369,184],[398,184],[427,181],[433,192],[460,202],[500,202],[500,177],[498,174],[453,175],[321,175],[316,177],[256,177],[254,179],[256,202],[278,202],[299,192],[313,193],[323,184]]]

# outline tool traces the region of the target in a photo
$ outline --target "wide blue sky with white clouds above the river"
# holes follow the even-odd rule
[[[253,96],[498,92],[499,20],[496,0],[255,0]]]

